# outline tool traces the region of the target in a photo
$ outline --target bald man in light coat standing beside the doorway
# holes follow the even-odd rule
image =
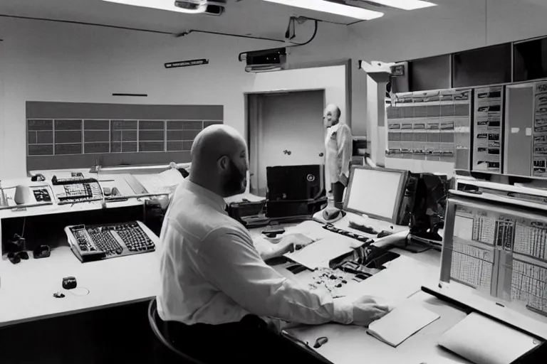
[[[325,139],[325,168],[330,178],[335,208],[342,208],[344,189],[350,178],[350,161],[353,154],[350,127],[340,123],[340,108],[325,107],[323,121],[327,128]]]

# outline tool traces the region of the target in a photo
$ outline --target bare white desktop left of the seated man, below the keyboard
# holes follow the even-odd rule
[[[81,263],[69,247],[44,259],[19,264],[0,262],[0,327],[146,301],[160,284],[158,251]],[[76,277],[78,288],[61,287],[63,277]],[[80,288],[81,287],[81,288]],[[76,296],[76,294],[89,294]],[[60,291],[62,299],[53,297]]]

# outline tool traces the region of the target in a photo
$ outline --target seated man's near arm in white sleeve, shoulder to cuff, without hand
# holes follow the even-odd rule
[[[199,259],[204,277],[251,314],[307,324],[353,321],[352,301],[283,277],[240,232],[212,232],[199,248]]]

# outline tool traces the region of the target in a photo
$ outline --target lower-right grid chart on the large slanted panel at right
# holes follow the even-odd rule
[[[547,313],[547,269],[514,259],[511,299],[525,301],[529,309]]]

